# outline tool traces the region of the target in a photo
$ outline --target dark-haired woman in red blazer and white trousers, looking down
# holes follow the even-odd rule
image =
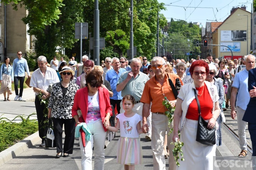
[[[94,147],[94,169],[104,169],[104,144],[106,128],[104,122],[109,122],[112,116],[108,89],[102,88],[102,76],[97,71],[91,71],[86,75],[86,87],[77,90],[72,108],[72,116],[77,124],[85,122],[91,132],[91,139],[85,141],[79,137],[82,154],[82,169],[91,170],[91,159]],[[79,119],[78,110],[82,117]]]

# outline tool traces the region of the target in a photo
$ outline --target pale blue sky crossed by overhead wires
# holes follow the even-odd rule
[[[158,0],[158,2],[171,5],[165,6],[167,10],[160,12],[168,21],[174,18],[187,22],[201,22],[205,27],[205,22],[224,21],[230,15],[233,6],[245,5],[246,10],[251,12],[253,0]]]

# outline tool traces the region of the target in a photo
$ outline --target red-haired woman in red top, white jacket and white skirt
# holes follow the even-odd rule
[[[214,128],[219,116],[219,96],[216,86],[205,81],[209,73],[207,63],[197,60],[191,64],[189,72],[194,82],[185,84],[180,89],[174,111],[172,140],[178,138],[184,142],[182,150],[185,160],[180,162],[179,169],[193,167],[197,170],[210,170],[213,169],[216,145],[203,145],[196,141],[199,118],[196,95],[201,107],[201,116],[208,122],[207,129]]]

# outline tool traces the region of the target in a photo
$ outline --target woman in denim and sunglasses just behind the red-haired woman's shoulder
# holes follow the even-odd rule
[[[222,104],[224,102],[224,88],[223,88],[223,80],[222,79],[216,79],[214,77],[214,75],[216,75],[218,73],[217,68],[210,64],[209,65],[209,73],[206,76],[206,81],[214,84],[217,87],[217,92],[219,95],[219,108],[222,109]],[[221,114],[219,114],[216,122],[218,122],[219,124],[219,128],[216,130],[216,134],[217,134],[217,138],[216,138],[216,145],[217,146],[221,146],[221,121],[222,121],[222,117]]]

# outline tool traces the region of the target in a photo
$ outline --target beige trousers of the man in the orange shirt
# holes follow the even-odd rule
[[[173,124],[171,124],[173,126]],[[153,167],[154,170],[165,170],[165,152],[163,142],[165,141],[165,132],[167,131],[167,145],[170,153],[174,148],[171,145],[173,133],[169,135],[170,128],[168,127],[168,118],[166,115],[152,113],[152,137],[151,148],[153,152]],[[169,170],[175,170],[176,163],[172,154],[169,156]]]

